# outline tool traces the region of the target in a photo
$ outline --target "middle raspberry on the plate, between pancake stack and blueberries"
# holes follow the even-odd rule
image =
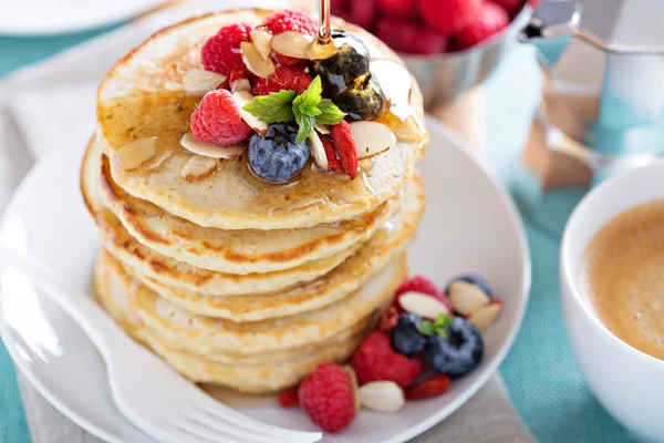
[[[393,381],[406,388],[419,375],[422,361],[402,356],[392,348],[390,334],[384,331],[372,332],[357,348],[351,364],[360,384],[371,381]]]

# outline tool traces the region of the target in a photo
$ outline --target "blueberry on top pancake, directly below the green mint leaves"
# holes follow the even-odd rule
[[[297,144],[298,127],[274,123],[266,135],[255,133],[249,140],[249,167],[259,177],[284,183],[293,178],[309,161],[309,141]]]

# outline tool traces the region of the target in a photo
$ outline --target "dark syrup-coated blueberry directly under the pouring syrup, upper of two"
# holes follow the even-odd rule
[[[359,38],[345,32],[332,32],[338,51],[329,59],[315,63],[325,95],[334,97],[369,73],[369,49]]]

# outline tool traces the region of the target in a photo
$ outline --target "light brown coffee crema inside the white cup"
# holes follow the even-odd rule
[[[604,225],[583,254],[580,284],[611,332],[664,360],[664,199]]]

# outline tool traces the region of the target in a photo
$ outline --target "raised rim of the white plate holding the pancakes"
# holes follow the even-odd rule
[[[466,390],[464,390],[461,393],[459,393],[457,395],[457,398],[454,399],[446,408],[440,409],[438,412],[429,415],[426,420],[423,420],[423,421],[418,422],[416,425],[411,426],[407,431],[401,432],[397,435],[394,435],[390,439],[384,440],[382,443],[402,443],[409,439],[413,439],[414,436],[417,436],[417,435],[424,433],[428,429],[433,427],[437,423],[442,422],[443,420],[445,420],[446,418],[452,415],[460,406],[463,406],[471,396],[474,396],[477,393],[477,391],[479,391],[487,383],[489,378],[492,377],[497,372],[498,367],[504,362],[504,360],[507,356],[507,352],[511,349],[513,341],[517,337],[517,333],[521,329],[523,316],[526,313],[526,309],[528,307],[528,302],[529,302],[529,298],[530,298],[530,287],[531,287],[531,279],[532,279],[532,262],[531,262],[531,256],[530,256],[530,248],[529,248],[528,239],[526,236],[526,228],[519,217],[519,212],[517,209],[515,202],[509,196],[508,192],[502,186],[502,184],[500,184],[498,182],[498,179],[496,178],[494,173],[483,164],[483,161],[480,158],[478,158],[477,155],[474,154],[473,147],[467,141],[465,141],[460,135],[458,135],[452,128],[447,127],[445,124],[440,123],[433,116],[427,115],[425,121],[426,121],[427,128],[434,127],[435,131],[438,132],[442,137],[444,137],[449,144],[454,145],[454,147],[460,152],[460,155],[467,157],[479,169],[481,169],[481,172],[486,175],[487,179],[491,183],[495,190],[498,193],[501,206],[504,206],[506,208],[508,219],[509,219],[510,224],[516,228],[518,247],[519,247],[521,256],[522,256],[521,267],[523,269],[523,278],[522,278],[521,285],[520,285],[520,298],[523,299],[523,302],[520,303],[520,307],[516,312],[515,322],[513,322],[512,327],[510,328],[509,332],[507,333],[505,340],[499,346],[499,348],[495,354],[495,358],[492,359],[492,361],[489,364],[487,364],[487,367],[485,368],[485,371],[477,378],[477,380],[470,387],[468,387]],[[75,138],[83,140],[82,134],[87,134],[90,131],[81,132],[81,133],[72,136],[71,138],[74,140],[74,137],[75,137]],[[49,158],[51,156],[54,156],[58,151],[59,151],[58,146],[50,150],[50,152],[45,156],[43,156],[30,169],[30,172],[25,175],[25,177],[21,181],[21,183],[18,186],[17,190],[14,192],[9,205],[7,206],[4,215],[0,218],[0,226],[6,220],[7,215],[11,214],[13,212],[15,202],[18,200],[18,197],[22,194],[22,190],[25,187],[24,184],[31,179],[32,175],[35,174],[35,169],[42,163],[49,162]],[[56,395],[54,395],[41,381],[38,380],[38,378],[33,377],[30,373],[30,370],[27,368],[27,364],[24,363],[24,361],[21,358],[19,358],[19,356],[17,356],[15,344],[13,344],[13,340],[11,340],[11,338],[9,337],[9,334],[12,333],[9,331],[10,327],[6,321],[2,321],[4,316],[3,316],[1,308],[2,308],[2,306],[0,303],[0,338],[4,342],[7,351],[8,351],[9,356],[11,357],[14,367],[19,370],[19,372],[23,377],[25,377],[28,382],[54,409],[56,409],[59,412],[61,412],[63,415],[65,415],[69,420],[74,422],[76,425],[81,426],[82,429],[90,432],[91,434],[93,434],[100,439],[103,439],[107,442],[123,443],[122,441],[116,440],[113,435],[110,435],[107,432],[103,431],[95,424],[86,421],[76,411],[73,411],[72,409],[65,406],[63,404],[63,402],[60,401]],[[12,344],[8,346],[8,339],[10,342],[12,342]]]

